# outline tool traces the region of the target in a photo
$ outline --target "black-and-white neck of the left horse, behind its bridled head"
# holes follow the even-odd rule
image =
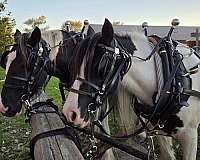
[[[82,31],[84,28],[82,29]],[[74,31],[63,31],[59,30],[55,33],[49,32],[49,34],[44,34],[43,37],[47,42],[49,42],[52,46],[52,51],[50,57],[51,63],[48,66],[48,75],[49,79],[53,77],[59,78],[59,89],[62,97],[62,101],[65,101],[64,88],[69,89],[72,85],[70,79],[70,68],[69,65],[74,57],[74,52],[76,47],[81,43],[81,41],[86,37],[92,37],[95,32],[94,29],[89,26],[87,28],[87,35],[83,36],[82,32],[74,32]],[[54,36],[58,37],[55,38]],[[56,40],[55,40],[56,39]],[[59,41],[58,41],[59,39]],[[53,42],[52,42],[53,40]],[[55,41],[58,41],[55,43]],[[47,85],[47,84],[46,84]]]

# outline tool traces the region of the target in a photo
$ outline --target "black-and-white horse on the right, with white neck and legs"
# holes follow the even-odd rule
[[[181,44],[177,49],[180,50],[184,60],[188,61],[191,50]],[[71,77],[74,83],[63,106],[67,120],[80,127],[87,126],[91,120],[88,112],[92,110],[96,113],[105,97],[113,94],[119,86],[118,94],[125,92],[124,95],[129,97],[129,104],[131,97],[135,96],[140,103],[154,106],[152,97],[158,91],[155,55],[148,61],[141,60],[148,57],[151,51],[152,46],[143,34],[114,35],[112,24],[106,19],[101,33],[82,41],[77,50],[77,57],[72,62]],[[130,62],[132,65],[129,69]],[[199,72],[191,75],[192,89],[198,91],[199,77]],[[160,127],[159,133],[170,134],[179,139],[182,142],[183,159],[195,160],[197,128],[200,122],[199,98],[190,96],[187,102],[188,107],[181,107],[172,119],[167,119],[168,125],[165,126],[170,128]],[[121,114],[126,116],[128,113]],[[161,139],[160,159],[176,159],[171,138]]]

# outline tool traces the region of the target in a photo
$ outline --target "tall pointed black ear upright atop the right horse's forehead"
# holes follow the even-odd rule
[[[110,45],[112,39],[113,39],[113,35],[114,35],[114,31],[113,31],[113,26],[110,23],[110,21],[106,18],[102,27],[102,41],[103,43]]]

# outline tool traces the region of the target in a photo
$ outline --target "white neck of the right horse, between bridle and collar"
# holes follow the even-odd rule
[[[137,48],[134,56],[146,58],[151,53],[152,48],[146,37],[135,35],[132,40]],[[152,96],[157,88],[154,56],[148,61],[132,57],[131,68],[124,76],[122,85],[143,103],[152,105]]]

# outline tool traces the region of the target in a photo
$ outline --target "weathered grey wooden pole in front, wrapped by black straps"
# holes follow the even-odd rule
[[[41,96],[40,96],[41,100]],[[41,106],[41,111],[54,111],[48,106]],[[64,127],[56,113],[33,114],[30,118],[32,137],[35,135]],[[64,135],[57,135],[38,140],[34,147],[35,160],[84,160],[74,142]]]

